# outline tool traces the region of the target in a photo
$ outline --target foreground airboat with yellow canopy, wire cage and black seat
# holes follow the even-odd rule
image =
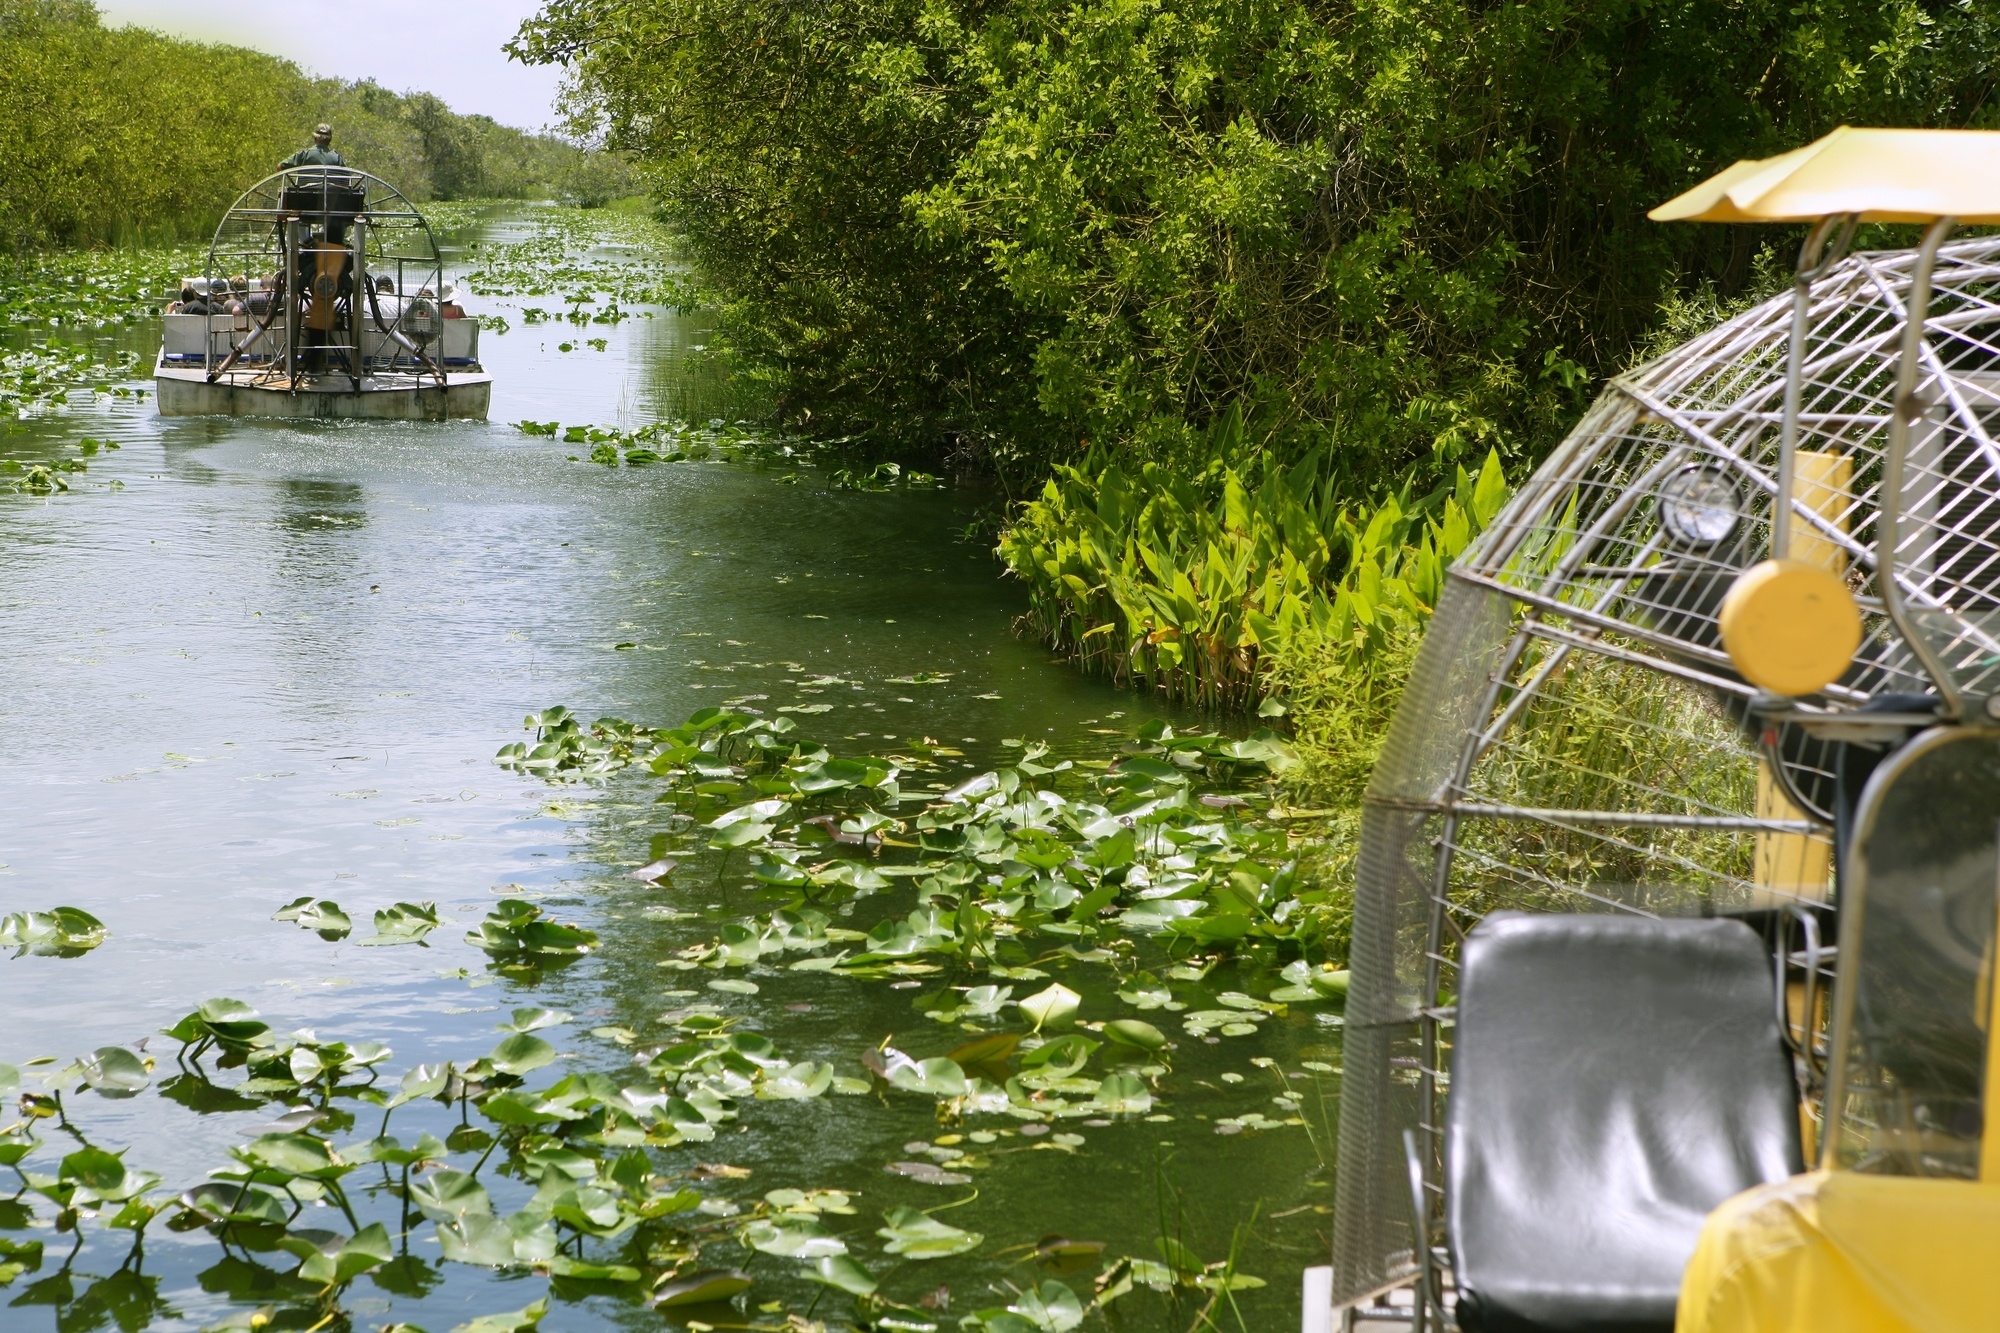
[[[1448,574],[1306,1329],[1994,1325],[2000,236],[1950,236],[2000,134],[1838,130],[1652,216],[1810,234]]]

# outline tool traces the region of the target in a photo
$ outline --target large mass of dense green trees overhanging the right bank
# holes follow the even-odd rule
[[[1652,204],[2000,114],[2000,20],[1942,0],[548,0],[516,48],[794,418],[1198,474],[1236,408],[1350,500],[1538,452],[1662,302],[1754,278],[1766,236]]]

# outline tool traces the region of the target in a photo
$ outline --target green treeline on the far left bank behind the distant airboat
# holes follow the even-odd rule
[[[106,28],[84,0],[0,0],[0,250],[200,236],[318,120],[348,162],[418,200],[552,194],[600,156],[426,92]]]

